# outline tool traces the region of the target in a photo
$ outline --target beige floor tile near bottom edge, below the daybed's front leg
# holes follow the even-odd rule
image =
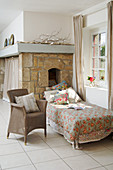
[[[100,167],[100,164],[93,160],[88,155],[80,155],[76,157],[65,158],[64,161],[73,169],[73,170],[86,170]]]

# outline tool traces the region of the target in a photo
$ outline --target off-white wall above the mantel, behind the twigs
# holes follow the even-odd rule
[[[54,31],[60,31],[59,36],[62,38],[70,34],[72,43],[72,17],[61,14],[24,12],[25,41],[33,41],[40,34],[51,34]]]

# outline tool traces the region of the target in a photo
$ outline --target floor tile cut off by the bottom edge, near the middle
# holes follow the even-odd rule
[[[35,166],[37,170],[71,170],[62,160],[39,163]]]

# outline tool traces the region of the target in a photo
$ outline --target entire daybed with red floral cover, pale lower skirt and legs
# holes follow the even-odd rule
[[[63,94],[64,98],[66,94]],[[83,101],[73,104],[83,107],[83,110],[69,109],[70,103],[63,105],[56,101],[47,104],[48,122],[76,149],[78,143],[97,141],[113,132],[112,111]]]

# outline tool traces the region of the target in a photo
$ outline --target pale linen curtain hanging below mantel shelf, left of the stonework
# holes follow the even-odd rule
[[[7,91],[18,88],[18,58],[5,59],[3,100],[9,101]]]

